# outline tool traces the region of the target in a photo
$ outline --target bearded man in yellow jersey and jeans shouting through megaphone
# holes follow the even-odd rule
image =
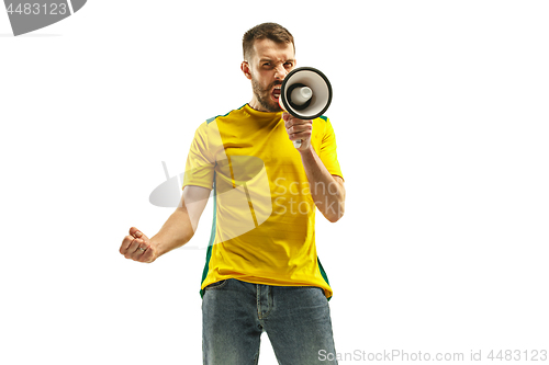
[[[214,223],[200,294],[204,364],[257,364],[267,332],[280,364],[327,364],[334,353],[327,275],[316,254],[315,208],[344,214],[345,187],[326,117],[301,121],[278,103],[295,67],[292,35],[274,23],[246,32],[248,104],[197,129],[179,207],[148,239],[135,227],[120,252],[153,262],[193,236],[210,192]],[[293,140],[301,140],[299,148]]]

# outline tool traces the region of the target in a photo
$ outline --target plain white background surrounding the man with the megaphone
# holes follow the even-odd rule
[[[346,215],[318,215],[316,243],[336,350],[549,350],[548,15],[546,1],[91,0],[13,37],[0,11],[0,363],[201,363],[211,206],[153,264],[119,247],[173,210],[148,202],[161,161],[182,172],[198,125],[250,100],[242,35],[265,21],[334,88]],[[259,363],[277,363],[265,334]]]

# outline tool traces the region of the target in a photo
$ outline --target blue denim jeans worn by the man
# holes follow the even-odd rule
[[[267,332],[281,365],[337,364],[318,354],[321,350],[336,353],[328,300],[322,288],[260,285],[235,278],[205,288],[205,365],[257,364],[262,332]]]

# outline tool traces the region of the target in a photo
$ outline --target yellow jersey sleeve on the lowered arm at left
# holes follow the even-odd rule
[[[215,159],[208,132],[208,123],[204,122],[194,133],[184,168],[183,189],[187,185],[213,189]]]

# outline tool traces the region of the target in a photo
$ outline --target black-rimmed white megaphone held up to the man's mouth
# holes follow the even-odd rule
[[[320,70],[300,67],[284,78],[278,102],[293,117],[314,119],[323,115],[332,103],[332,84]],[[299,148],[301,140],[294,140],[293,146]]]

